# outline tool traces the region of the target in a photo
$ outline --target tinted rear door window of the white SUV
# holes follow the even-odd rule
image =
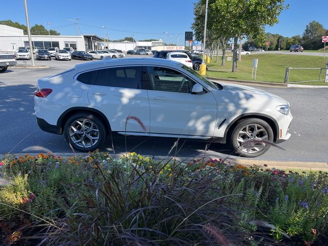
[[[95,86],[141,89],[139,67],[106,68],[95,72]]]

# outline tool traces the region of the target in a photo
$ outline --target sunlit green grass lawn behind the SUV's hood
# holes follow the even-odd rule
[[[258,59],[258,67],[255,81],[283,83],[287,67],[292,68],[325,68],[326,60],[317,56],[285,55],[285,54],[251,54],[243,55],[237,64],[238,72],[231,72],[232,61],[226,60],[226,66],[221,67],[221,60],[217,63],[211,61],[206,75],[217,78],[230,78],[251,80],[252,61]],[[322,71],[321,79],[325,71]],[[320,70],[291,70],[289,82],[316,80],[319,78]],[[301,83],[304,85],[327,85],[323,82]],[[301,85],[300,84],[300,85]]]

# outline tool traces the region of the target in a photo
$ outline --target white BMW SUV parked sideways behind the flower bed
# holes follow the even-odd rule
[[[247,86],[214,84],[176,61],[106,59],[40,78],[38,126],[93,151],[109,133],[230,142],[255,157],[288,139],[290,104]]]

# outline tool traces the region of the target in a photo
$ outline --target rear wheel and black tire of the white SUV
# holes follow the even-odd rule
[[[86,124],[85,126],[90,127],[91,123],[93,123],[93,128],[94,130],[98,130],[98,131],[89,131],[88,129],[83,129],[81,127],[81,125],[77,124],[77,120],[79,120],[79,122],[82,121],[83,124]],[[73,134],[72,130],[73,128],[71,128],[71,126],[74,126],[74,129],[81,132],[81,133],[75,133]],[[90,130],[90,128],[89,128]],[[93,139],[95,142],[93,142],[88,136],[92,135],[91,137],[97,137],[98,139]],[[101,120],[92,115],[92,114],[88,114],[88,113],[77,113],[74,114],[73,116],[71,116],[65,124],[64,127],[64,136],[67,142],[69,142],[72,147],[78,151],[82,151],[82,152],[87,152],[87,151],[94,151],[98,148],[100,148],[106,138],[107,138],[107,131],[106,128],[103,124],[103,122],[101,122]],[[80,142],[75,142],[74,140],[80,140]],[[82,142],[83,141],[83,142]],[[84,143],[84,144],[83,144]],[[85,146],[85,147],[84,147]]]

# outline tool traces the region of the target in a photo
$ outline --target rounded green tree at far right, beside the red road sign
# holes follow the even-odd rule
[[[323,26],[316,22],[310,22],[306,25],[305,31],[302,36],[302,45],[305,50],[318,50],[323,47],[321,41],[322,36],[326,34],[326,30]]]

